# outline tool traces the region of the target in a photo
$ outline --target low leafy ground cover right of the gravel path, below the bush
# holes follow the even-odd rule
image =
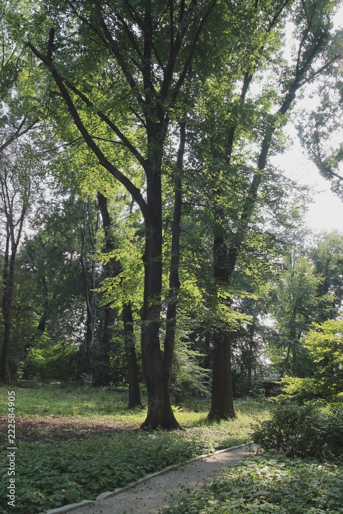
[[[162,514],[336,514],[343,512],[343,468],[284,455],[248,457]]]

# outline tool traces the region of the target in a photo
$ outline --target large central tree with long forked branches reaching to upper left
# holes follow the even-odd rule
[[[171,2],[167,17],[165,7],[153,5],[151,1],[142,5],[124,2],[115,10],[105,4],[74,3],[64,12],[59,6],[50,4],[51,19],[56,16],[55,19],[61,23],[50,28],[46,53],[42,53],[32,40],[28,43],[35,56],[46,65],[85,142],[100,164],[132,195],[145,220],[145,292],[142,307],[145,329],[141,334],[141,347],[143,374],[149,394],[144,426],[151,428],[178,427],[169,398],[173,345],[167,338],[162,353],[159,343],[163,147],[171,122],[171,107],[175,105],[185,82],[197,42],[215,4],[215,0],[211,0],[197,6],[196,2],[191,1],[187,8],[185,2]],[[71,25],[78,26],[77,37],[68,28],[69,20]],[[112,106],[118,102],[116,94],[112,98],[100,99],[102,88],[97,87],[98,79],[93,84],[87,81],[85,88],[77,84],[80,83],[80,73],[84,76],[88,71],[84,67],[84,52],[82,56],[79,52],[80,43],[88,54],[88,62],[98,65],[96,69],[89,70],[92,74],[104,79],[104,67],[107,70],[112,68],[114,74],[107,80],[108,85],[115,82],[116,77],[121,77],[117,94],[119,97],[124,94],[127,98],[129,109],[126,112],[144,135],[141,144],[128,138],[124,127],[120,128],[122,121],[111,116]],[[42,43],[38,45],[42,46]],[[80,58],[75,58],[74,71],[71,71],[68,70],[66,63],[69,57],[66,56],[73,53]],[[101,55],[100,60],[95,58],[98,55]],[[76,69],[79,76],[76,76]],[[87,112],[83,106],[80,108],[80,102],[88,109]],[[111,155],[105,155],[103,146],[90,130],[89,121],[94,117],[102,120],[107,132],[112,133],[112,137],[144,170],[146,199],[129,175],[119,170],[121,163],[113,160]],[[146,149],[145,157],[142,148]]]

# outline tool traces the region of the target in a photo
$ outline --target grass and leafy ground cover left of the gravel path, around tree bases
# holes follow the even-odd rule
[[[35,514],[185,462],[202,453],[246,443],[251,424],[269,418],[265,401],[239,400],[237,418],[209,424],[209,404],[175,408],[181,431],[144,432],[146,411],[128,410],[128,398],[106,390],[16,387],[17,514]],[[7,389],[1,388],[6,414]],[[4,425],[3,425],[4,426]],[[7,427],[4,434],[7,440]],[[7,451],[1,460],[0,512],[8,512]]]

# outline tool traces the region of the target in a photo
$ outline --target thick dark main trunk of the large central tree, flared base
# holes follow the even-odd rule
[[[159,127],[159,125],[158,125]],[[148,390],[148,414],[143,428],[179,428],[171,408],[169,384],[171,376],[170,356],[173,347],[165,341],[164,356],[159,340],[159,324],[162,290],[162,205],[161,205],[161,156],[163,143],[154,124],[149,137],[147,176],[147,205],[149,219],[145,219],[146,241],[143,262],[145,267],[144,297],[142,307],[141,348],[142,370]],[[166,360],[167,359],[167,360]],[[169,361],[169,362],[168,362]]]

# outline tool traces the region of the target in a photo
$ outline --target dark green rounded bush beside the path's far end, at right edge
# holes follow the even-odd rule
[[[312,405],[279,405],[272,419],[262,421],[252,439],[265,451],[317,457],[343,454],[343,410],[320,410]]]

